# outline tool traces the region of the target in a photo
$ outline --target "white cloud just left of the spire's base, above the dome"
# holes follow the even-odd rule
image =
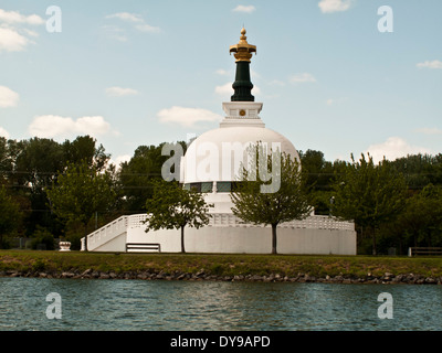
[[[186,108],[173,106],[161,109],[157,114],[161,122],[175,122],[183,127],[192,127],[200,121],[221,121],[222,116],[201,108]]]

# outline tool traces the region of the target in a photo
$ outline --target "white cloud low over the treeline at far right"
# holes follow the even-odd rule
[[[378,145],[371,145],[366,150],[369,152],[377,163],[386,157],[388,160],[394,160],[397,158],[407,157],[407,154],[429,153],[431,151],[418,146],[409,145],[406,140],[400,137],[390,137],[387,141]]]

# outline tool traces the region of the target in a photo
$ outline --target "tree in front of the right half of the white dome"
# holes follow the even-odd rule
[[[267,158],[260,158],[267,156]],[[305,218],[312,211],[308,204],[301,164],[292,156],[271,151],[266,153],[261,143],[249,150],[249,165],[242,167],[239,183],[230,193],[234,204],[232,212],[244,222],[272,226],[272,254],[276,254],[276,227],[283,222]],[[272,172],[270,192],[263,185],[272,185],[262,178],[261,171]],[[265,174],[265,173],[264,173]],[[272,189],[272,188],[271,188]]]

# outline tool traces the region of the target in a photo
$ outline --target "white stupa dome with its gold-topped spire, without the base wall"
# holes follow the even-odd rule
[[[240,42],[230,46],[236,58],[234,95],[223,103],[224,119],[218,129],[193,140],[180,165],[180,182],[187,190],[207,193],[206,201],[214,204],[213,212],[231,213],[230,191],[240,180],[242,167],[249,167],[249,147],[261,143],[270,151],[281,151],[299,161],[299,156],[283,135],[267,129],[261,120],[262,103],[255,103],[250,79],[250,58],[256,46],[246,41],[245,30]]]

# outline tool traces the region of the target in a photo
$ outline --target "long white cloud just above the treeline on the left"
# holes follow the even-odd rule
[[[41,138],[65,137],[72,133],[98,136],[112,132],[110,124],[102,116],[81,117],[74,120],[70,117],[42,115],[34,117],[28,130],[31,136]]]

